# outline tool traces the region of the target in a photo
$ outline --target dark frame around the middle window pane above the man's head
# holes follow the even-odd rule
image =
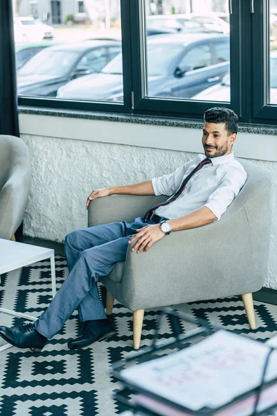
[[[133,71],[133,85],[134,85],[134,110],[138,114],[148,112],[148,114],[164,114],[176,116],[181,118],[199,118],[203,116],[204,111],[208,110],[213,105],[233,108],[233,110],[242,116],[240,89],[241,71],[240,64],[242,59],[241,53],[241,10],[240,0],[233,6],[233,14],[230,16],[230,24],[233,26],[233,33],[231,34],[230,42],[230,66],[231,66],[231,85],[234,85],[233,92],[231,91],[231,103],[213,102],[213,101],[185,101],[184,99],[166,99],[166,98],[150,98],[145,96],[145,71],[144,55],[145,55],[145,39],[143,33],[145,32],[145,10],[143,0],[136,0],[132,3],[130,8],[132,20],[132,67]],[[143,19],[140,16],[144,16]],[[231,27],[231,26],[230,26]],[[237,59],[237,53],[239,58]],[[144,54],[144,55],[143,55]],[[235,83],[234,83],[235,80]]]

